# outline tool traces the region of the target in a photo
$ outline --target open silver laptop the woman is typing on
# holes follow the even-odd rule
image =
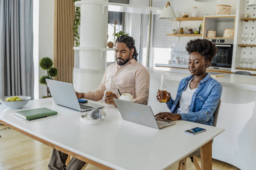
[[[114,101],[124,120],[155,129],[161,129],[175,124],[171,120],[156,120],[150,106],[115,98]]]

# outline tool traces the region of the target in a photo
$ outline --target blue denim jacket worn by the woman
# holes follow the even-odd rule
[[[177,109],[179,108],[179,99],[182,92],[186,89],[189,80],[193,77],[193,75],[185,77],[181,82],[179,82],[176,99],[171,99],[166,103],[170,112],[177,113]],[[207,74],[205,78],[198,83],[197,89],[192,95],[189,112],[180,113],[182,120],[212,126],[212,115],[220,101],[221,92],[222,85]]]

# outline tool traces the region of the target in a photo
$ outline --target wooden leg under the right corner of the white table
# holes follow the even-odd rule
[[[212,170],[212,140],[200,149],[202,170]]]

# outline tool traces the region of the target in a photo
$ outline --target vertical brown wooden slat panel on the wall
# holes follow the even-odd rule
[[[73,82],[74,0],[54,0],[54,80]]]

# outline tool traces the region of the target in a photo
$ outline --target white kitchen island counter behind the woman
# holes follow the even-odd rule
[[[176,97],[180,80],[189,76],[185,69],[148,67],[150,87],[148,105],[153,112],[166,112],[166,104],[156,102],[156,89],[165,74],[167,91]],[[171,72],[165,72],[171,71]],[[212,144],[212,158],[254,170],[256,160],[256,76],[223,74],[215,78],[223,86],[217,127],[225,129]]]

